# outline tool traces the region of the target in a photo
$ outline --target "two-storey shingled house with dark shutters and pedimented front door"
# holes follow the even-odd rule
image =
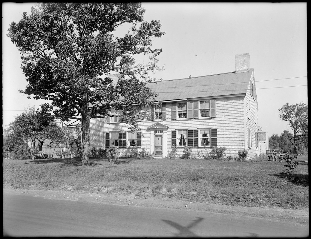
[[[199,157],[213,147],[226,147],[232,157],[243,149],[248,159],[259,154],[258,102],[248,53],[235,55],[234,72],[159,81],[147,87],[159,94],[160,107],[150,109],[150,120],[139,122],[141,132],[132,133],[118,118],[91,119],[90,148],[113,144],[123,156],[133,147],[145,148],[155,158],[167,157],[173,145],[178,155],[186,145]]]

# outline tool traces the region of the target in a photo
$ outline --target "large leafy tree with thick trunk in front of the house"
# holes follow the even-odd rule
[[[141,3],[42,3],[10,24],[29,84],[21,92],[50,100],[42,107],[62,120],[81,120],[82,164],[89,162],[91,118],[116,117],[114,109],[135,130],[140,109],[155,99],[146,82],[159,70],[162,49],[151,43],[164,32],[160,21],[144,22],[144,12]],[[115,34],[124,24],[129,30]]]

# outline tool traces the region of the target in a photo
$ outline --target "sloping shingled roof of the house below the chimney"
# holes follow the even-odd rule
[[[157,101],[246,94],[254,69],[148,83]]]

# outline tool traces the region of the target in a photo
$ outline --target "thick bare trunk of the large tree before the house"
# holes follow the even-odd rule
[[[90,157],[90,115],[82,115],[82,145],[81,145],[81,164],[89,164]]]

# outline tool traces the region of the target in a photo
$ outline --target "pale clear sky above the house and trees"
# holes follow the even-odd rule
[[[27,81],[20,53],[6,36],[9,24],[30,13],[35,3],[2,3],[2,127],[28,105],[18,92]],[[144,21],[160,20],[165,35],[153,40],[164,70],[157,79],[170,80],[235,71],[235,55],[249,53],[258,97],[258,125],[281,134],[291,129],[280,121],[284,104],[307,98],[307,5],[300,3],[142,3]]]

